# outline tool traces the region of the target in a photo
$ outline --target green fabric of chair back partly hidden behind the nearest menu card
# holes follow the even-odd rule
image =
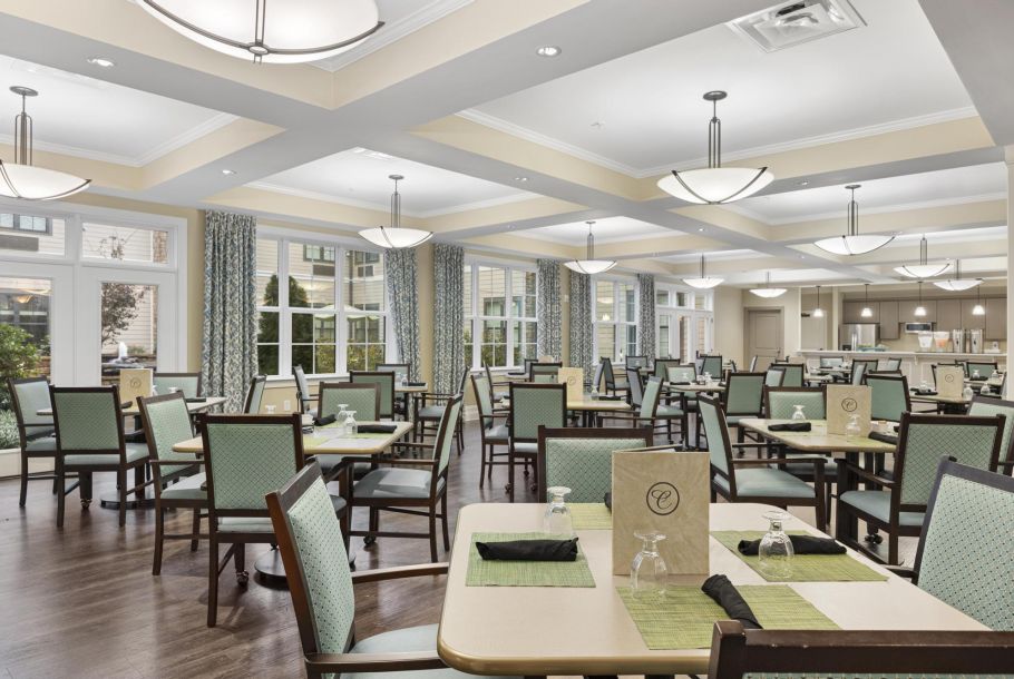
[[[644,445],[644,439],[546,439],[545,486],[569,488],[567,502],[602,502],[613,486],[613,451]]]

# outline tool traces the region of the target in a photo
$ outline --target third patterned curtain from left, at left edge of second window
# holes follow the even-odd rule
[[[433,390],[454,394],[465,367],[465,248],[433,246]]]

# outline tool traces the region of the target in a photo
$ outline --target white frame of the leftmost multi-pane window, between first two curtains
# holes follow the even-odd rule
[[[349,350],[349,327],[348,318],[355,316],[381,316],[384,332],[384,362],[398,362],[397,342],[394,342],[393,323],[391,322],[391,301],[388,294],[387,279],[384,279],[384,308],[377,312],[357,312],[345,309],[344,305],[344,273],[345,273],[345,253],[349,250],[377,253],[381,256],[384,252],[377,247],[364,245],[363,240],[331,237],[326,234],[316,232],[303,232],[298,229],[284,228],[272,225],[259,225],[257,238],[275,240],[277,243],[277,276],[279,276],[279,306],[257,305],[257,317],[263,312],[277,312],[279,314],[279,372],[276,375],[267,375],[269,380],[291,380],[292,378],[292,314],[310,315],[331,315],[323,309],[303,309],[296,307],[293,309],[289,306],[289,285],[282,282],[289,281],[289,247],[292,244],[318,245],[322,247],[334,248],[334,323],[335,323],[335,362],[334,373],[308,373],[312,377],[333,377],[349,374],[348,350]],[[386,275],[386,274],[384,274]],[[260,301],[259,301],[260,302]]]

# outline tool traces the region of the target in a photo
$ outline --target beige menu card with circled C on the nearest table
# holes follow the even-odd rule
[[[613,574],[628,575],[641,551],[634,533],[665,535],[659,553],[670,574],[709,572],[709,472],[706,452],[673,446],[613,453]]]

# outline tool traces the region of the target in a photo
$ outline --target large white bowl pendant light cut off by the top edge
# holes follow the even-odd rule
[[[352,49],[380,27],[374,0],[138,0],[149,14],[204,47],[254,63],[318,61]],[[269,7],[269,4],[271,7]]]

